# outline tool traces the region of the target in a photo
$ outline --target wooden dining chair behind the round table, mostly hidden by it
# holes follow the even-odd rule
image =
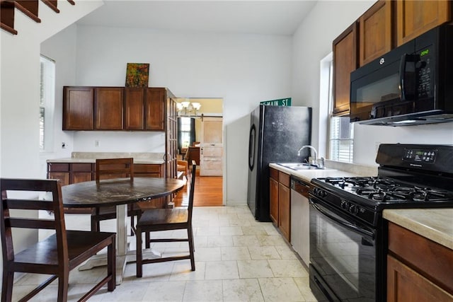
[[[110,178],[130,178],[134,180],[134,158],[96,159],[96,182]],[[127,216],[130,216],[131,235],[134,232],[134,216],[142,214],[136,204],[127,205]],[[116,218],[116,207],[96,207],[91,211],[91,231],[100,231],[101,221]]]

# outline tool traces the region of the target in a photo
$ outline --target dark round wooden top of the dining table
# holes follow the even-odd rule
[[[173,178],[115,178],[78,182],[62,187],[63,205],[69,208],[105,207],[164,197],[182,189],[185,182]]]

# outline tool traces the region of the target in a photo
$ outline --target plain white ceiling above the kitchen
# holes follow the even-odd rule
[[[98,25],[211,33],[293,35],[316,1],[118,1],[77,21]]]

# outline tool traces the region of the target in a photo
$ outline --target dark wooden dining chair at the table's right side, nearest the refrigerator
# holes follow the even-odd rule
[[[142,266],[147,263],[166,262],[175,260],[190,259],[192,270],[195,271],[195,255],[193,245],[193,228],[192,228],[192,212],[193,212],[193,192],[195,190],[195,170],[197,165],[195,161],[192,165],[192,174],[190,177],[190,193],[187,208],[174,209],[147,209],[143,211],[142,216],[137,221],[135,237],[137,238],[137,277],[142,277]],[[161,236],[151,238],[153,232],[171,231],[171,230],[187,230],[187,238],[162,238]],[[142,251],[142,233],[145,233],[146,248],[149,248],[150,243],[156,242],[181,242],[187,241],[189,245],[188,255],[160,257],[155,259],[143,259]]]

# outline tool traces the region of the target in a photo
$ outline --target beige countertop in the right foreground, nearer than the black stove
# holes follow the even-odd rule
[[[453,250],[453,209],[384,209],[383,216]]]

